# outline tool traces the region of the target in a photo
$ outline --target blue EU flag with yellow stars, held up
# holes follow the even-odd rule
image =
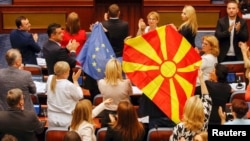
[[[106,63],[113,57],[115,57],[115,53],[103,27],[101,23],[96,23],[76,60],[80,62],[85,73],[95,80],[99,80],[104,78]]]

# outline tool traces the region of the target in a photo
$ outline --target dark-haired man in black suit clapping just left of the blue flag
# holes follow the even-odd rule
[[[69,41],[66,48],[62,48],[62,28],[60,24],[52,23],[48,26],[47,34],[49,40],[43,45],[43,56],[46,60],[48,74],[54,74],[54,65],[57,61],[66,61],[69,63],[71,71],[69,80],[72,81],[72,68],[76,66],[76,48],[79,43],[75,40]]]

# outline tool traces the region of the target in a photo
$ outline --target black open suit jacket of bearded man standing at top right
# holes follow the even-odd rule
[[[234,39],[233,39],[233,45],[234,45],[234,51],[237,60],[243,60],[241,50],[238,46],[239,41],[246,42],[249,38],[248,34],[248,27],[247,23],[244,19],[240,18],[237,16],[235,22],[240,22],[240,31],[236,33],[234,32]],[[216,26],[216,31],[215,31],[215,36],[219,40],[219,47],[220,47],[220,54],[218,56],[218,61],[222,62],[229,50],[230,46],[230,32],[228,31],[229,28],[229,18],[228,16],[222,17],[218,20],[217,26]]]

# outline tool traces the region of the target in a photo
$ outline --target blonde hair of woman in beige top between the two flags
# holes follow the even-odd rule
[[[123,80],[122,66],[119,60],[112,58],[107,62],[105,68],[105,75],[105,80],[110,85],[117,85],[118,80]]]

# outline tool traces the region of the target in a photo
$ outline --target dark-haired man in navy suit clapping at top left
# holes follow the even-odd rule
[[[29,33],[31,24],[24,16],[16,19],[16,26],[17,29],[10,33],[12,48],[19,49],[24,64],[37,64],[36,53],[41,51],[41,47],[37,44],[38,35]]]

